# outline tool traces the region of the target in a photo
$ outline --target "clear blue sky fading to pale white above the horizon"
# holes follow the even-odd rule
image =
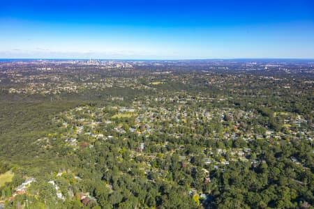
[[[313,0],[3,0],[0,58],[314,58]]]

